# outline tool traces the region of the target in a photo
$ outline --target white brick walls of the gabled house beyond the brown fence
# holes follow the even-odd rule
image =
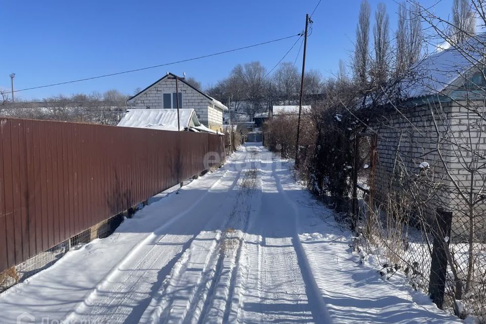
[[[182,93],[180,108],[193,108],[199,121],[206,127],[221,127],[223,124],[223,111],[211,106],[211,100],[201,95],[183,82],[178,83],[179,92]],[[163,109],[163,94],[176,92],[176,80],[165,78],[153,85],[145,93],[133,99],[138,109]]]

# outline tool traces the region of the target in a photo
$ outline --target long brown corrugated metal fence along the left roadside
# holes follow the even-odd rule
[[[0,118],[0,272],[224,159],[220,135]]]

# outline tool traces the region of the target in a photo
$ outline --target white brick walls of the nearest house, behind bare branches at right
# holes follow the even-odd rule
[[[464,104],[459,102],[459,104]],[[467,116],[466,107],[461,107],[456,103],[442,103],[443,112],[439,115],[435,108],[434,111],[437,126],[441,132],[444,132],[446,127],[450,127],[449,134],[454,134],[454,142],[457,141],[459,145],[468,147],[471,143],[479,143],[479,149],[486,154],[486,126],[483,126],[482,131],[477,129],[477,120]],[[388,112],[380,112],[380,117],[372,118],[370,126],[377,130],[378,136],[378,165],[375,173],[375,187],[376,197],[386,197],[386,192],[389,190],[390,175],[393,171],[394,158],[398,146],[398,139],[402,133],[402,139],[399,145],[399,158],[403,161],[407,172],[410,175],[418,174],[420,169],[419,164],[422,161],[427,161],[433,169],[435,181],[443,184],[443,189],[437,191],[430,203],[427,212],[432,213],[436,208],[443,208],[447,211],[452,211],[455,216],[453,231],[456,235],[461,235],[467,229],[465,224],[465,217],[461,210],[466,206],[464,201],[457,194],[452,181],[446,175],[442,161],[437,153],[437,134],[431,115],[431,107],[428,105],[417,106],[408,109],[402,109],[401,113],[394,110]],[[477,118],[476,118],[477,119]],[[442,121],[444,120],[444,121]],[[412,126],[414,125],[414,127]],[[443,133],[441,134],[443,136]],[[471,137],[469,137],[471,136]],[[447,166],[452,178],[459,184],[460,187],[466,188],[470,185],[470,173],[464,170],[463,164],[467,164],[471,160],[471,156],[466,153],[461,157],[460,163],[457,153],[453,150],[449,141],[440,141],[439,148],[447,160]],[[461,151],[466,152],[466,149]],[[395,170],[396,172],[396,170]],[[432,173],[430,173],[432,174]],[[477,181],[476,190],[479,190],[483,184],[484,175]],[[469,181],[468,181],[469,180]],[[486,210],[486,206],[479,206],[477,219],[478,224],[484,226],[486,216],[481,213]],[[478,227],[481,227],[478,225]]]

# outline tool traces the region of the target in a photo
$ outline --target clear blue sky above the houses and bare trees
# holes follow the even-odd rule
[[[211,54],[297,34],[305,14],[318,0],[246,1],[18,1],[0,7],[2,34],[0,87],[24,89],[100,74],[136,69]],[[370,1],[376,8],[379,1]],[[397,4],[384,1],[392,31]],[[322,0],[312,20],[306,67],[330,76],[352,49],[359,1]],[[424,1],[432,4],[433,0]],[[452,0],[437,6],[449,15]],[[17,93],[24,99],[56,94],[118,89],[132,94],[171,71],[193,76],[203,87],[228,75],[238,63],[260,61],[268,69],[290,49],[295,38],[257,48],[172,66],[86,82]],[[300,43],[287,61],[294,61]],[[300,56],[302,51],[300,52]],[[299,58],[299,68],[301,58]]]

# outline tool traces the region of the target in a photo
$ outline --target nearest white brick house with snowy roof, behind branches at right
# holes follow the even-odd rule
[[[467,236],[470,228],[465,197],[478,197],[473,229],[486,235],[486,78],[471,57],[454,48],[431,55],[415,67],[418,77],[403,82],[402,101],[357,112],[366,120],[363,131],[378,134],[373,196],[386,203],[395,189],[391,179],[401,181],[403,170],[416,179],[427,175],[437,188],[424,211],[452,212],[453,236]]]

